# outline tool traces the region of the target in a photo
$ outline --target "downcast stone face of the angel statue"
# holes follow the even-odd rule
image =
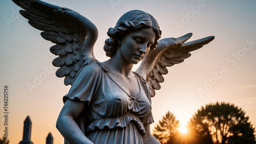
[[[129,63],[137,64],[150,52],[156,34],[152,28],[143,28],[127,34],[120,41],[121,57]]]

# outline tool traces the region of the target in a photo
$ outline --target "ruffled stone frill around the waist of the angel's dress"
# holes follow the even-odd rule
[[[131,122],[135,124],[142,135],[145,134],[143,123],[141,122],[140,118],[134,114],[127,114],[113,118],[97,119],[88,126],[86,131],[92,132],[97,130],[124,128]]]

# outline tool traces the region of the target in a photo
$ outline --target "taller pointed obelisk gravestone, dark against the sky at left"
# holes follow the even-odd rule
[[[23,139],[19,142],[19,144],[33,144],[31,141],[31,126],[32,122],[30,120],[30,117],[27,116],[27,118],[24,121],[24,128],[23,128]]]

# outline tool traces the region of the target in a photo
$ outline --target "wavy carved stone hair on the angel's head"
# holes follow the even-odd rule
[[[108,36],[110,38],[105,40],[104,51],[106,56],[112,57],[115,55],[117,47],[119,45],[118,39],[123,38],[127,34],[139,31],[143,28],[152,28],[156,34],[154,44],[151,46],[151,50],[158,44],[158,39],[161,38],[161,30],[158,26],[156,19],[143,11],[132,10],[122,15],[116,23],[115,28],[110,28]]]

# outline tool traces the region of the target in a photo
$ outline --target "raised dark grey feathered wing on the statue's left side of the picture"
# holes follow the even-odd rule
[[[43,32],[41,36],[56,45],[50,48],[58,57],[52,64],[60,67],[56,76],[66,77],[65,85],[72,85],[77,71],[84,65],[96,60],[93,46],[98,37],[94,24],[67,8],[61,8],[38,0],[12,0],[19,7],[29,24]]]

